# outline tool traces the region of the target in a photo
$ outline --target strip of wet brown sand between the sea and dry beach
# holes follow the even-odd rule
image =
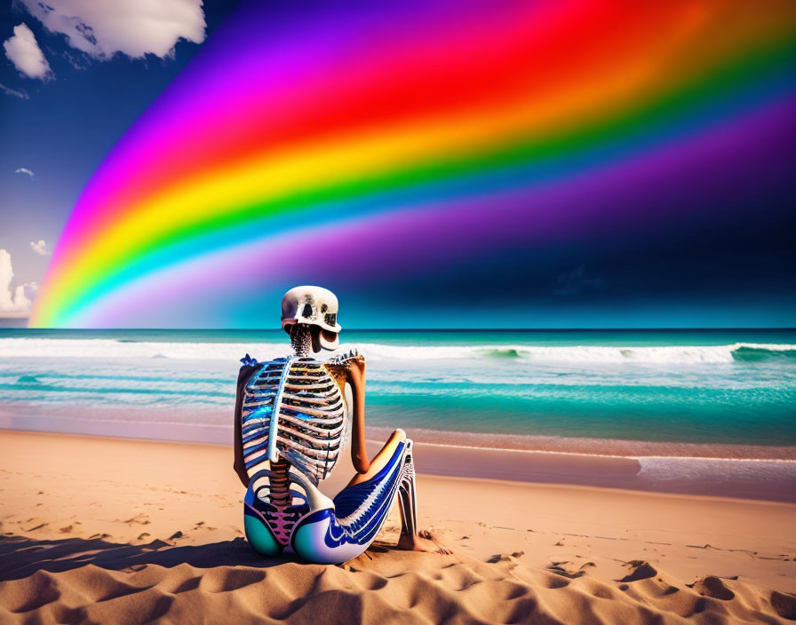
[[[0,424],[3,424],[2,418]],[[166,446],[178,444],[219,449],[231,447],[231,440],[227,443],[207,443],[97,433],[0,429],[0,435],[13,433],[51,439],[69,437],[78,440],[127,440]],[[383,431],[375,433],[384,436],[375,437],[374,432],[368,429],[366,441],[371,456],[378,452],[386,439]],[[796,503],[796,462],[791,460],[590,455],[546,450],[450,446],[429,443],[422,439],[415,439],[415,449],[418,472],[427,475]],[[229,453],[231,454],[231,450]],[[347,451],[342,453],[345,455]]]

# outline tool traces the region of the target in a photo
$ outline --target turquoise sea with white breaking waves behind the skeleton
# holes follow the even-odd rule
[[[796,445],[796,330],[343,338],[368,360],[368,423],[438,432],[442,442],[471,434]],[[0,329],[0,411],[30,429],[75,431],[82,420],[81,431],[124,423],[147,438],[163,423],[231,430],[237,360],[288,349],[276,330]]]

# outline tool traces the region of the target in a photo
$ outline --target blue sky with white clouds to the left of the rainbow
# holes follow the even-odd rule
[[[28,316],[29,305],[13,306],[16,291],[36,297],[31,286],[94,170],[236,5],[171,3],[186,9],[168,20],[160,3],[120,0],[109,15],[99,4],[52,3],[45,26],[36,2],[0,3],[0,319]],[[139,20],[117,32],[114,11]],[[66,15],[93,25],[97,43],[59,26],[54,18]],[[171,24],[153,33],[147,18]]]

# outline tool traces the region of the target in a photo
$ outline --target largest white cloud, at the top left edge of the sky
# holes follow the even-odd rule
[[[204,41],[202,0],[20,0],[46,28],[95,59],[164,58],[179,39]]]

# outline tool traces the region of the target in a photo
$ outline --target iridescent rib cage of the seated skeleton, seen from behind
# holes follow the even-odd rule
[[[322,362],[291,356],[262,363],[243,395],[246,469],[281,456],[317,485],[337,462],[346,416],[343,394]]]

